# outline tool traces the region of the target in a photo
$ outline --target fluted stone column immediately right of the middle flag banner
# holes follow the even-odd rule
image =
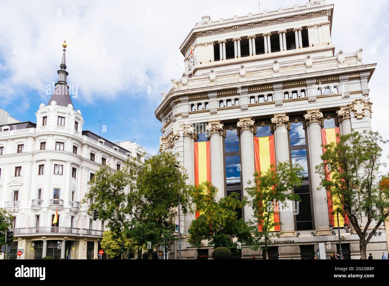
[[[289,117],[286,116],[286,113],[274,114],[274,117],[272,118],[277,165],[282,162],[289,162],[288,121]],[[289,190],[289,193],[291,191],[292,190]],[[285,203],[285,208],[280,207],[281,236],[293,237],[296,235],[296,232],[294,231],[292,201],[287,200]]]

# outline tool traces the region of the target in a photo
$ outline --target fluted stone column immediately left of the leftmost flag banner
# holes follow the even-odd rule
[[[195,184],[195,164],[194,164],[194,132],[193,127],[189,125],[181,125],[182,137],[184,137],[184,168],[188,174],[189,184]],[[189,226],[195,219],[195,214],[187,212],[184,217],[185,233],[188,233]]]

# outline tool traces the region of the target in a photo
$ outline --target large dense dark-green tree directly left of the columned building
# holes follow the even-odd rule
[[[132,170],[130,201],[135,217],[128,237],[148,249],[149,259],[152,259],[152,249],[171,244],[175,239],[179,193],[181,214],[190,207],[187,175],[175,167],[178,163],[174,154],[161,152],[140,163],[139,168],[134,162],[128,165]]]

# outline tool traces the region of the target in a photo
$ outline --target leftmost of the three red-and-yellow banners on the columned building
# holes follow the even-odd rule
[[[209,141],[195,142],[195,184],[211,181],[211,147]],[[196,218],[200,213],[196,211]]]

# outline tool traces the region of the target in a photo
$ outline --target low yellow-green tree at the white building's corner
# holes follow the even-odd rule
[[[103,239],[100,242],[102,249],[114,259],[118,259],[121,256],[121,244],[122,244],[122,235],[115,234],[111,231],[105,231],[103,233]],[[129,248],[132,251],[135,251],[136,248],[139,248],[132,240],[127,237],[123,238],[124,248]]]

